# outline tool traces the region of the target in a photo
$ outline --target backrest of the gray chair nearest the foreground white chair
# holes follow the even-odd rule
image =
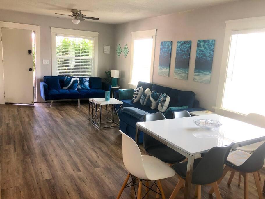
[[[222,177],[227,156],[234,145],[211,148],[193,170],[192,183],[210,184]]]

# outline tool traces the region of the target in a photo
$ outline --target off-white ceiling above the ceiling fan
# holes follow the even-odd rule
[[[80,9],[99,22],[120,24],[237,0],[1,0],[0,9],[57,17]]]

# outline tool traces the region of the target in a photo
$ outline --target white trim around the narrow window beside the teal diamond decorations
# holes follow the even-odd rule
[[[153,83],[153,71],[154,71],[154,52],[156,49],[156,29],[153,30],[144,30],[131,32],[131,69],[130,69],[130,88],[136,88],[137,85],[131,84],[131,76],[134,65],[134,39],[141,37],[152,37],[153,38],[153,47],[152,47],[152,57],[151,57],[151,68],[150,68],[150,83]]]

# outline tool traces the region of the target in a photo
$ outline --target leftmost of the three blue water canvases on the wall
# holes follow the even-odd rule
[[[172,41],[161,41],[158,64],[158,75],[169,77]]]

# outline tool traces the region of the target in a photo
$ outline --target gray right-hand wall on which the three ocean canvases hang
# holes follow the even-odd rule
[[[120,44],[123,48],[124,45],[127,44],[130,50],[126,58],[123,54],[121,54],[120,57],[115,55],[115,66],[117,70],[120,70],[118,84],[123,88],[128,88],[129,86],[131,32],[157,29],[153,83],[181,90],[194,91],[196,93],[196,98],[200,100],[200,107],[213,110],[212,106],[216,105],[221,56],[225,36],[225,20],[265,16],[264,8],[264,0],[236,1],[234,3],[193,10],[186,13],[164,15],[116,25],[115,47]],[[210,84],[193,82],[198,39],[216,40]],[[188,80],[173,78],[178,40],[192,40]],[[173,41],[169,77],[158,75],[160,41]]]

